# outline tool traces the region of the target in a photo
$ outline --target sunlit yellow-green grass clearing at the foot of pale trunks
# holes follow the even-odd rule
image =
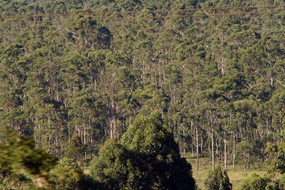
[[[199,159],[199,170],[196,168],[196,159],[186,156],[188,162],[192,165],[193,177],[196,180],[196,184],[202,190],[204,190],[203,182],[208,176],[208,171],[212,169],[210,165],[210,159],[200,158]],[[265,166],[260,163],[254,163],[251,165],[251,170],[244,171],[244,166],[242,164],[235,165],[235,171],[232,171],[232,165],[227,165],[227,173],[229,180],[232,183],[233,190],[238,190],[243,180],[251,176],[253,173],[263,176],[265,173]]]

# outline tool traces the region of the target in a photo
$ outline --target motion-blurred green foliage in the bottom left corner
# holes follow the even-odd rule
[[[0,146],[0,170],[1,175],[5,176],[1,179],[1,186],[19,181],[18,183],[24,183],[26,188],[30,186],[33,189],[49,189],[47,178],[56,164],[56,158],[45,151],[36,150],[34,142],[30,139],[13,133],[8,137]]]

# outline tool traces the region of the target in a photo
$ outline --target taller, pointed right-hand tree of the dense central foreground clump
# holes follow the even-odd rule
[[[147,118],[138,116],[122,137],[130,151],[138,153],[143,178],[157,189],[195,189],[191,165],[181,158],[170,126],[155,111]],[[141,155],[141,156],[140,156]]]

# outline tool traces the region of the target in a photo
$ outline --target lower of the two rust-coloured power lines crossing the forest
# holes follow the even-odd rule
[[[76,20],[44,20],[44,21],[25,21],[25,22],[0,22],[0,25],[8,24],[36,24],[36,23],[64,23],[64,22],[89,22],[103,20],[148,20],[158,18],[189,18],[189,17],[214,17],[214,16],[235,16],[235,15],[260,15],[260,14],[277,14],[285,13],[285,11],[270,11],[270,12],[239,12],[239,13],[221,13],[221,14],[203,14],[203,15],[172,15],[172,16],[153,16],[153,17],[122,17],[122,18],[94,18],[94,19],[76,19]]]

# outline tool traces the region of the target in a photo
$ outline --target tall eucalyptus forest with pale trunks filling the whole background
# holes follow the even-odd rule
[[[247,170],[253,162],[275,161],[284,152],[285,13],[157,17],[284,7],[147,11],[283,4],[2,1],[0,142],[12,130],[32,138],[35,149],[88,166],[106,140],[122,140],[137,115],[158,111],[180,154],[196,156],[197,169],[199,157],[210,158],[213,169],[232,164],[234,170],[241,163]],[[143,12],[21,17],[125,11]],[[93,18],[110,20],[65,22]],[[268,159],[267,164],[274,165]]]

